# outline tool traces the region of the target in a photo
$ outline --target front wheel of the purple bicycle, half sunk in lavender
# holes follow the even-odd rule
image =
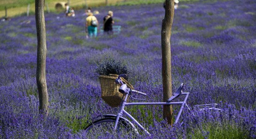
[[[134,134],[131,125],[122,119],[119,119],[117,128],[115,129],[115,120],[116,118],[102,118],[96,120],[84,128],[84,132],[88,138],[96,138],[106,133],[112,135],[115,133],[122,133],[122,135]]]

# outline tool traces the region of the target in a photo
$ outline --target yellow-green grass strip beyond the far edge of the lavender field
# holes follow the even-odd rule
[[[163,3],[163,0],[107,0],[107,5],[120,6],[120,5],[138,5],[138,4],[153,4]],[[180,0],[181,2],[194,2],[198,0]],[[51,12],[57,12],[55,9],[56,2],[60,0],[45,0],[48,4]],[[70,0],[70,6],[74,7],[75,10],[89,7],[105,6],[106,0]],[[26,15],[27,6],[30,4],[29,15],[34,15],[35,1],[34,0],[1,0],[0,1],[0,17],[5,16],[5,6],[7,6],[7,16],[14,17],[20,15]],[[186,7],[184,7],[186,8]],[[46,7],[44,7],[45,12]],[[64,10],[63,10],[64,11]]]

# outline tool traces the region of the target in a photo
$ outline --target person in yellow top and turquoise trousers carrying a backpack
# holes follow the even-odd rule
[[[93,16],[92,12],[88,13],[85,23],[85,32],[92,36],[97,36],[97,29],[98,29],[99,22],[95,16]]]

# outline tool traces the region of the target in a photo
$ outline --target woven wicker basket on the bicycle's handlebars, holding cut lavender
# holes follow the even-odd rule
[[[115,79],[118,77],[116,74],[109,74],[110,76],[100,75],[100,83],[101,83],[101,98],[111,107],[117,107],[120,105],[123,95],[118,91],[120,84],[115,83]],[[121,80],[124,84],[126,84],[129,88],[133,89],[133,86],[127,82],[123,77]],[[129,96],[127,98],[127,101]]]

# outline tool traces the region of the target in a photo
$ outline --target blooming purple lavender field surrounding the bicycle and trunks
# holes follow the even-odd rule
[[[170,127],[161,106],[127,107],[151,133],[136,138],[256,138],[255,7],[255,0],[179,3],[171,35],[173,91],[183,82],[184,91],[191,93],[189,107],[218,103],[223,111],[192,111],[194,116],[185,108],[184,124]],[[100,26],[107,11],[114,12],[120,34],[86,39],[83,10],[74,18],[45,14],[47,118],[38,114],[35,17],[0,22],[0,138],[88,138],[81,129],[102,114],[118,112],[101,99],[93,72],[92,60],[100,62],[104,54],[133,70],[130,83],[148,94],[147,101],[163,101],[162,4],[97,10]],[[135,138],[119,133],[92,135],[96,137]]]

